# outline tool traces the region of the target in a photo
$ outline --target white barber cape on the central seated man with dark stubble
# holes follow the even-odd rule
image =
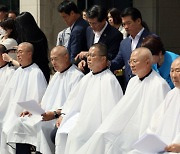
[[[74,154],[100,126],[122,95],[122,89],[109,69],[97,74],[88,73],[70,94],[67,106],[62,110],[67,116],[56,134],[56,154]],[[76,118],[73,119],[73,116]],[[71,125],[68,125],[69,121]],[[71,128],[66,128],[69,129],[66,131],[64,127],[68,126]]]

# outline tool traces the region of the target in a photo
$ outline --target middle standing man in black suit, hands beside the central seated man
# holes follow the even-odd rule
[[[86,31],[88,49],[94,43],[103,43],[107,46],[108,60],[114,59],[123,35],[106,21],[107,11],[101,6],[92,6],[87,12],[87,18],[90,25]],[[88,51],[83,51],[76,58],[83,59],[87,53]],[[85,66],[87,66],[86,62],[81,61],[79,68],[84,70]]]

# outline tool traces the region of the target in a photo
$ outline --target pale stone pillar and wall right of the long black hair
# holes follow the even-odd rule
[[[59,31],[66,25],[59,16],[57,6],[62,0],[20,0],[20,12],[30,12],[41,30],[45,33],[49,50],[56,45],[56,38]]]

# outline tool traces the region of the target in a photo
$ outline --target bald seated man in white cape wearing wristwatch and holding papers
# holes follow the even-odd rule
[[[68,51],[65,47],[54,47],[50,58],[57,72],[52,77],[41,101],[41,106],[46,111],[46,113],[42,114],[44,122],[38,121],[38,116],[40,117],[40,115],[32,115],[31,117],[22,116],[14,125],[11,125],[8,131],[3,132],[5,134],[3,134],[3,137],[7,136],[4,138],[4,142],[9,142],[9,144],[28,143],[36,146],[36,150],[43,154],[54,153],[54,146],[49,138],[50,132],[54,128],[54,119],[59,117],[59,109],[64,105],[70,91],[83,77],[83,73],[75,65],[71,64]],[[25,115],[25,113],[22,115]],[[36,123],[36,125],[32,125],[32,123]],[[17,145],[16,153],[26,154],[28,151],[30,152],[30,146],[25,144]],[[26,148],[22,150],[24,146]]]

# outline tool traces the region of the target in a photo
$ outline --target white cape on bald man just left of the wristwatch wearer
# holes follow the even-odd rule
[[[33,63],[27,67],[19,67],[0,97],[0,124],[3,126],[1,133],[0,153],[6,154],[6,134],[8,134],[20,113],[24,110],[17,102],[34,99],[40,103],[46,90],[47,82],[42,71]],[[23,136],[23,132],[21,134]],[[26,136],[24,136],[26,137]],[[10,148],[11,149],[11,148]],[[12,149],[11,149],[12,150]]]

